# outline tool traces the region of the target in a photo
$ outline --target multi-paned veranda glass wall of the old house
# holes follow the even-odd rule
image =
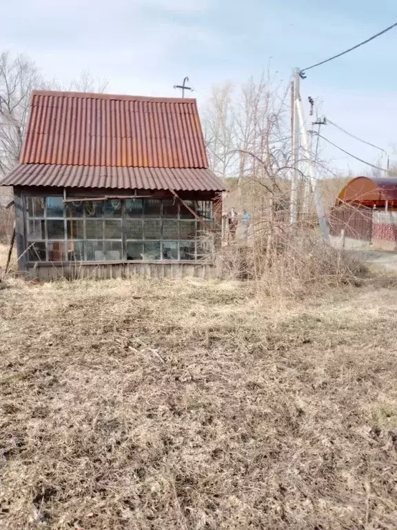
[[[211,201],[185,201],[209,225]],[[210,240],[203,224],[178,199],[64,202],[26,196],[30,262],[197,260]]]

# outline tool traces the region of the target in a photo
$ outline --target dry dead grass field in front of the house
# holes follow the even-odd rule
[[[396,529],[397,288],[7,280],[0,527]]]

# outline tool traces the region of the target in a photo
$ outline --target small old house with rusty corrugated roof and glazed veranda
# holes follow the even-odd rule
[[[13,186],[18,263],[43,279],[208,275],[224,187],[195,99],[34,91]]]

